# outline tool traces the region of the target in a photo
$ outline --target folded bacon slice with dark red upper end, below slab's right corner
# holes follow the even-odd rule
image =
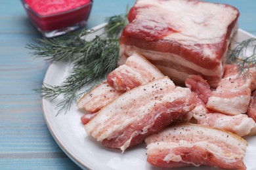
[[[226,115],[207,109],[205,101],[211,95],[211,90],[209,84],[201,76],[188,76],[186,86],[195,93],[196,107],[191,111],[191,114],[193,114],[197,124],[224,129],[239,136],[253,135],[253,129],[256,127],[256,124],[246,114]]]

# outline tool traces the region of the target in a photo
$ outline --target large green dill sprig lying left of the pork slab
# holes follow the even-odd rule
[[[106,78],[110,71],[116,69],[119,59],[119,35],[127,24],[126,14],[112,16],[108,23],[100,29],[104,32],[94,39],[86,41],[87,35],[97,30],[82,29],[53,39],[37,39],[36,44],[27,44],[36,57],[50,61],[67,61],[73,65],[72,71],[58,86],[43,83],[35,91],[51,100],[63,95],[62,101],[56,105],[57,115],[70,110],[77,99],[93,86]],[[83,92],[79,92],[83,88]]]

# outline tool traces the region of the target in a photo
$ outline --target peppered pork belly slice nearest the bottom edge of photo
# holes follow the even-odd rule
[[[181,124],[167,127],[145,139],[147,161],[156,167],[207,165],[246,169],[247,143],[241,137],[207,126]]]

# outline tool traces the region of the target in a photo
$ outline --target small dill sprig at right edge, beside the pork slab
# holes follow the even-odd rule
[[[248,75],[250,67],[256,67],[256,39],[246,39],[237,42],[238,45],[230,50],[227,63],[235,63],[240,69],[240,75]]]

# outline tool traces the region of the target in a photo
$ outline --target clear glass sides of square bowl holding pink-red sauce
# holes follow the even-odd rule
[[[74,9],[42,15],[35,12],[26,3],[26,0],[21,1],[32,24],[48,38],[63,35],[68,31],[84,27],[87,24],[93,5],[93,0],[88,0],[85,5],[75,7]]]

